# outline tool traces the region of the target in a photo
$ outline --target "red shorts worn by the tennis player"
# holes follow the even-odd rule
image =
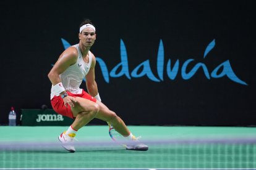
[[[96,99],[92,97],[92,95],[85,92],[84,90],[82,91],[82,94],[73,94],[71,92],[67,92],[67,94],[69,94],[69,96],[72,96],[72,97],[82,97],[83,99],[88,99],[96,103]],[[73,116],[70,105],[67,105],[67,107],[64,105],[64,102],[61,99],[61,95],[59,96],[55,95],[53,99],[51,99],[51,106],[53,107],[53,110],[56,111],[56,113],[59,113],[60,115],[67,116],[72,119],[75,118]]]

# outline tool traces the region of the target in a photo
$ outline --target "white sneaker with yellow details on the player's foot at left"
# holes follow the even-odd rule
[[[74,138],[75,134],[66,134],[66,131],[63,132],[59,137],[59,142],[61,142],[62,147],[64,147],[69,152],[74,153],[75,147],[74,147]]]

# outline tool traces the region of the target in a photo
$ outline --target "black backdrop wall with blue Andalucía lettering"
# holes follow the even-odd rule
[[[20,108],[51,108],[47,75],[90,18],[101,99],[126,124],[256,125],[252,1],[91,5],[1,2],[1,124],[11,106],[18,115]]]

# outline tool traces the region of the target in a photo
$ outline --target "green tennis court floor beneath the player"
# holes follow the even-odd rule
[[[0,126],[0,169],[256,169],[256,127],[128,127],[148,151],[114,144],[107,125],[80,129],[75,153],[65,126]]]

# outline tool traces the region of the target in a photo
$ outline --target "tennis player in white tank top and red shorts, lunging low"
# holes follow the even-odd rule
[[[93,23],[86,19],[80,25],[79,44],[69,47],[60,55],[49,71],[52,83],[51,105],[57,113],[74,119],[74,122],[59,136],[62,146],[69,152],[75,152],[76,132],[93,118],[113,125],[124,136],[129,145],[127,150],[148,150],[132,135],[122,119],[101,102],[95,81],[95,56],[90,51],[96,39]],[[86,79],[87,92],[80,89],[83,78]],[[131,142],[132,141],[132,142]]]

